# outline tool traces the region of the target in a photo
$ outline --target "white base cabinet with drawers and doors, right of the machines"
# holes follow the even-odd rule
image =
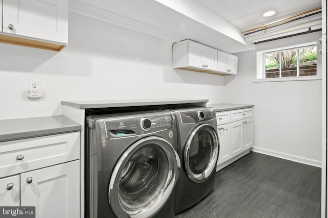
[[[239,120],[231,122],[232,120],[234,120],[233,114],[235,114],[236,112],[244,114],[244,118],[240,117],[238,118]],[[231,114],[228,116],[228,113]],[[219,125],[220,123],[218,122],[217,126],[220,143],[219,157],[217,160],[217,171],[245,155],[248,150],[254,146],[253,115],[253,108],[223,111],[216,113],[218,119],[220,117],[229,117],[229,120],[224,118],[220,119],[224,120],[224,123],[226,124]]]

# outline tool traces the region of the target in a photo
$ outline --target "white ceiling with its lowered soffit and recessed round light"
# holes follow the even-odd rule
[[[239,35],[239,31],[320,7],[321,0],[69,0],[69,4],[71,12],[100,21],[172,41],[191,39],[235,53],[252,50],[254,45],[241,43],[222,30],[235,30]],[[262,17],[269,9],[277,13]],[[193,13],[195,16],[190,15]]]

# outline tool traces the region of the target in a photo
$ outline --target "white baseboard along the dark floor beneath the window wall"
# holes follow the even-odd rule
[[[262,148],[258,148],[258,147],[253,147],[250,149],[250,151],[282,158],[285,160],[291,160],[291,161],[295,161],[295,162],[299,162],[299,163],[304,163],[304,164],[308,164],[311,166],[317,166],[320,168],[321,168],[321,164],[322,164],[321,161],[318,161],[318,160],[313,160],[310,158],[300,157],[300,156],[286,154],[286,153],[282,153],[282,152],[276,152],[276,151],[272,151],[269,149],[262,149]]]

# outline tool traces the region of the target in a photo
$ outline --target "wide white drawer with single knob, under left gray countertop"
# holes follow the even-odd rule
[[[1,142],[0,177],[79,158],[79,132]]]

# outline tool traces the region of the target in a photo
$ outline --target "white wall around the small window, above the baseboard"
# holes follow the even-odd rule
[[[256,51],[318,40],[320,34],[258,44]],[[321,166],[321,80],[253,83],[256,51],[235,54],[238,76],[226,77],[224,101],[255,105],[254,151]]]

